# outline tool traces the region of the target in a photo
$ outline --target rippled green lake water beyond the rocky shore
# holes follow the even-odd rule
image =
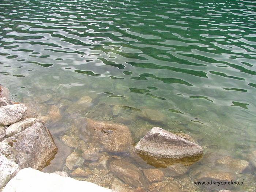
[[[127,125],[135,142],[143,136],[138,129],[159,126],[191,135],[205,153],[248,161],[256,147],[255,6],[2,0],[1,83],[39,114],[58,106],[61,120],[46,123],[56,138],[87,113]],[[83,96],[91,106],[68,114]],[[146,109],[159,121],[144,117]],[[252,169],[238,177],[246,183],[236,190],[255,190]]]

